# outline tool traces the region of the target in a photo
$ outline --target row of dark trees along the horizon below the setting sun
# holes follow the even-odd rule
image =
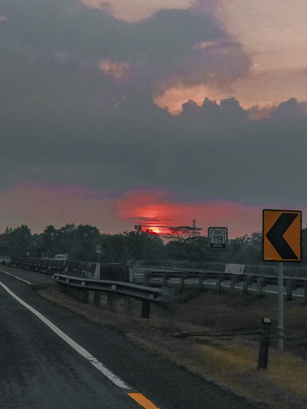
[[[266,264],[262,261],[262,233],[254,232],[228,240],[226,251],[210,250],[208,238],[199,228],[170,227],[164,243],[150,229],[135,226],[123,234],[100,233],[91,225],[47,226],[43,233],[31,234],[27,225],[6,228],[0,234],[0,255],[10,257],[48,257],[68,254],[71,260],[124,263],[126,260],[177,260],[239,264]],[[97,253],[97,245],[99,252]],[[302,262],[307,264],[307,228],[302,229]],[[289,263],[290,264],[290,263]],[[289,265],[288,264],[288,265]],[[291,263],[298,266],[298,263]]]

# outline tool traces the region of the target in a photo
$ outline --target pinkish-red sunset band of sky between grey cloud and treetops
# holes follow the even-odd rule
[[[24,183],[0,192],[0,200],[1,232],[7,226],[14,229],[25,224],[32,234],[42,233],[47,225],[58,229],[74,223],[90,224],[100,233],[119,234],[141,225],[143,231],[151,229],[163,237],[169,233],[168,227],[192,226],[193,219],[203,236],[207,236],[208,227],[228,227],[229,238],[262,230],[262,207],[226,200],[175,202],[165,191],[129,191],[108,198],[95,189]],[[302,225],[305,223],[303,220]]]

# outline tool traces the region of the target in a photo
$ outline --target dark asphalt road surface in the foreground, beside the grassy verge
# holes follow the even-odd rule
[[[19,269],[0,270],[18,276]],[[160,409],[253,408],[244,398],[144,350],[124,332],[44,299],[35,285],[1,271],[0,282],[133,388],[113,384],[0,285],[1,408],[142,407],[127,392],[142,393]]]

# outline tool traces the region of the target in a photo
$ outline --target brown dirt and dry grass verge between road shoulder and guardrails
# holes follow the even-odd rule
[[[214,290],[182,294],[173,312],[151,304],[149,319],[141,318],[142,303],[118,297],[115,310],[107,309],[107,295],[100,307],[80,303],[59,288],[38,291],[70,310],[95,322],[124,330],[144,348],[185,366],[188,370],[224,389],[245,396],[260,408],[289,409],[307,407],[307,348],[297,342],[284,342],[284,353],[277,350],[277,339],[269,348],[268,369],[257,369],[260,335],[216,337],[178,337],[180,333],[205,332],[221,328],[260,326],[262,317],[272,318],[277,327],[276,296],[227,292],[218,296]],[[186,297],[185,297],[186,296]],[[189,300],[189,297],[193,297]],[[185,299],[185,301],[184,301]],[[307,306],[301,299],[284,302],[284,328],[307,333]],[[307,341],[307,339],[305,339]]]

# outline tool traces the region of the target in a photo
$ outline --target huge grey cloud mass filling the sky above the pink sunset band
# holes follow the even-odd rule
[[[303,103],[282,103],[263,121],[234,98],[188,101],[177,117],[153,103],[153,89],[223,86],[248,72],[248,56],[208,10],[128,24],[71,5],[2,1],[1,189],[29,180],[108,197],[144,188],[182,201],[307,200]]]

